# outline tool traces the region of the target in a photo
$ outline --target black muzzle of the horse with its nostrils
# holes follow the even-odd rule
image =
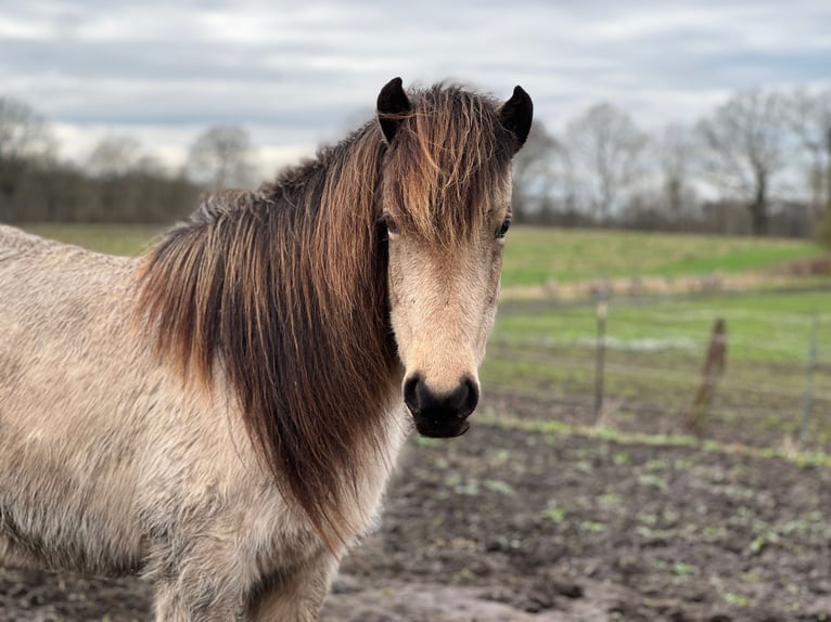
[[[425,437],[449,438],[466,432],[470,428],[466,419],[476,409],[478,398],[478,386],[469,377],[444,394],[434,393],[419,374],[404,383],[404,401],[412,413],[416,429]]]

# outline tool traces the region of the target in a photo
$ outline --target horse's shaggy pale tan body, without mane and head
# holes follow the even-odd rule
[[[241,451],[247,437],[230,404],[183,392],[135,338],[136,260],[7,226],[0,248],[0,560],[141,572],[161,584],[159,620],[176,611],[167,594],[187,596],[194,619],[233,619],[286,569],[298,594],[322,598],[335,560]],[[386,464],[404,438],[400,415],[388,419]],[[367,469],[362,507],[378,506],[384,464]]]

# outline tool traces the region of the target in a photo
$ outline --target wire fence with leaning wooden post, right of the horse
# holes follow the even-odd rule
[[[824,309],[831,293],[804,289],[511,303],[483,379],[526,416],[831,451]]]

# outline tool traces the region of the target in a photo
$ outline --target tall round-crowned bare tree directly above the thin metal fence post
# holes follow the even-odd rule
[[[608,103],[571,121],[566,135],[575,174],[585,180],[591,206],[608,221],[641,173],[647,135],[628,114]]]

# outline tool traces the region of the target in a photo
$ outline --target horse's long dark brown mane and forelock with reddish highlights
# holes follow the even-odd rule
[[[327,540],[349,531],[344,503],[399,390],[381,197],[402,226],[451,242],[508,179],[494,101],[411,96],[392,148],[372,121],[257,192],[208,196],[138,274],[156,353],[206,388],[225,374],[258,454]]]

